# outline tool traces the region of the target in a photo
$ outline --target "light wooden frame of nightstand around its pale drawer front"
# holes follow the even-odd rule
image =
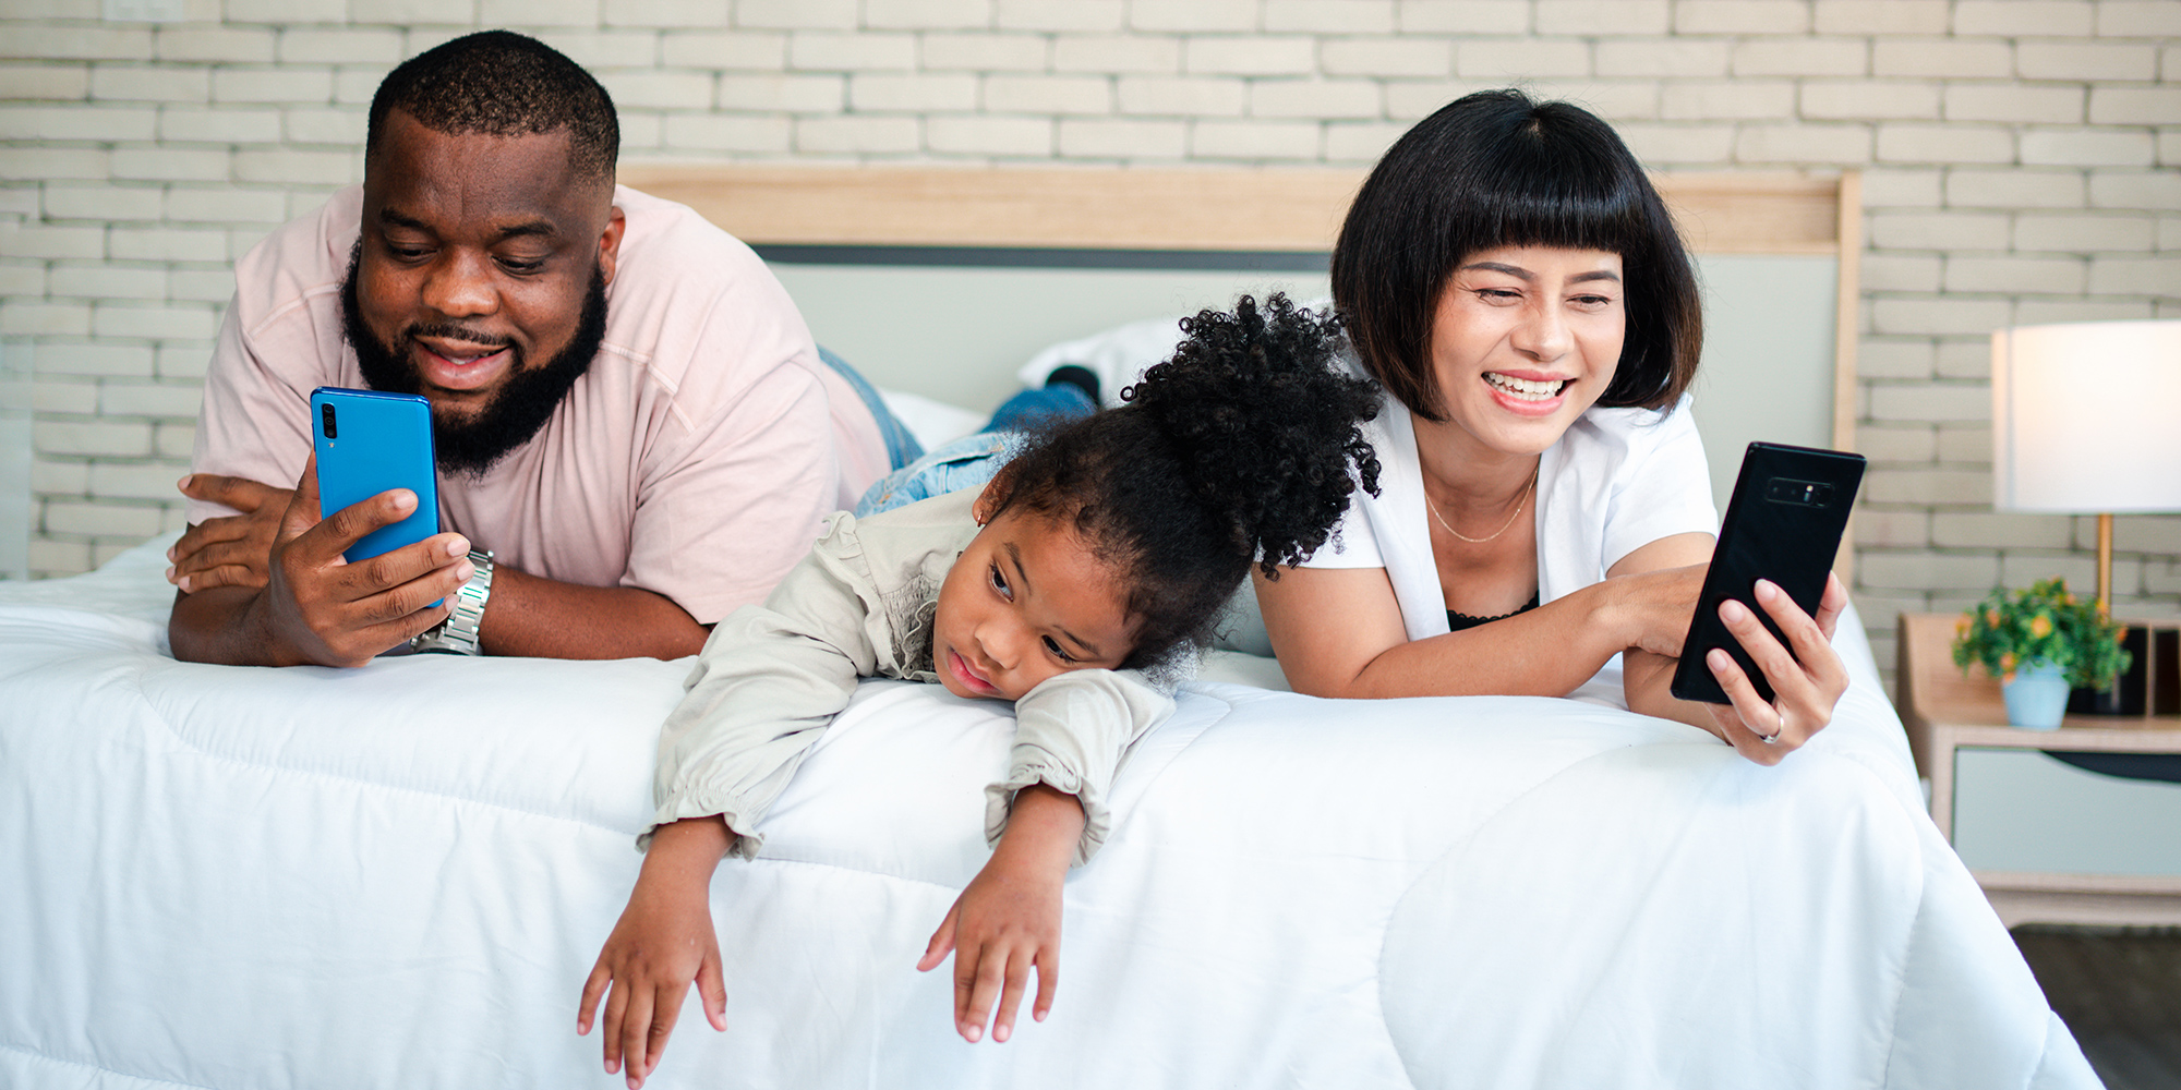
[[[2181,715],[2070,715],[2059,730],[2007,726],[2000,682],[1954,667],[1954,615],[1900,617],[1900,713],[1917,772],[1930,780],[1930,818],[1954,839],[1954,752],[1963,748],[2177,752]],[[2177,831],[2166,831],[2177,835]],[[2007,927],[2181,924],[2181,876],[1978,870]]]

